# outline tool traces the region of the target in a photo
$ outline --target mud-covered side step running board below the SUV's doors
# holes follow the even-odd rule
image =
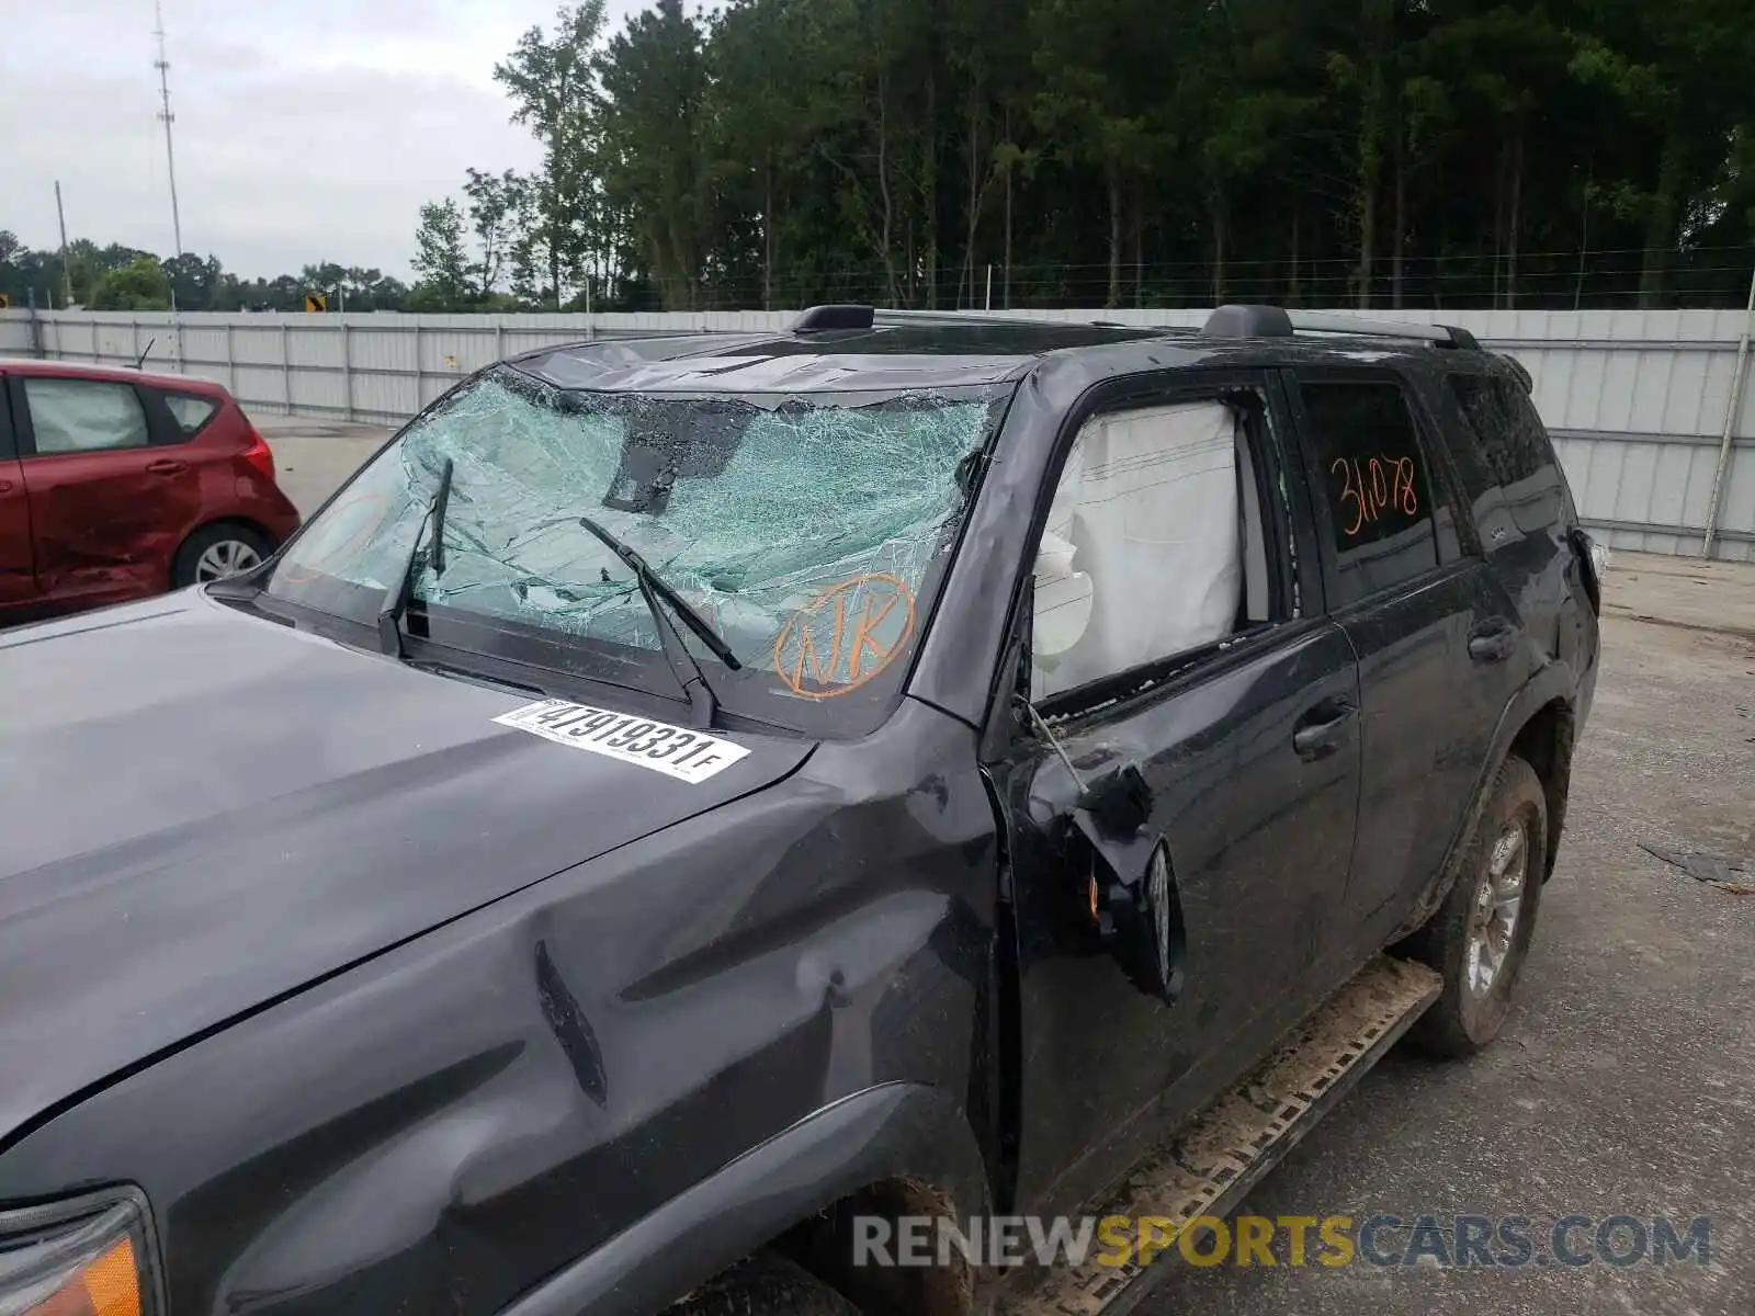
[[[1116,1195],[1090,1214],[1164,1216],[1179,1230],[1197,1216],[1223,1219],[1295,1148],[1408,1026],[1437,1000],[1439,976],[1379,955],[1272,1055],[1202,1111],[1176,1142],[1151,1153]],[[999,1298],[999,1316],[1121,1316],[1174,1262],[1034,1270]]]

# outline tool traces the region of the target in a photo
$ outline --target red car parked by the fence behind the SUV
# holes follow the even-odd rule
[[[0,625],[235,576],[297,528],[219,384],[0,358]]]

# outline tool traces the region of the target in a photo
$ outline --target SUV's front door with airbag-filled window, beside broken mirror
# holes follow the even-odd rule
[[[1276,430],[1265,381],[1178,393],[1090,418],[1060,476],[1020,662],[1035,712],[990,765],[1025,1211],[1104,1188],[1332,986],[1313,970],[1353,849],[1358,688],[1344,633],[1297,602],[1320,595],[1293,590],[1304,493]],[[1125,765],[1150,791],[1144,849],[1169,858],[1174,1004],[1116,956],[1076,821],[1081,784]]]

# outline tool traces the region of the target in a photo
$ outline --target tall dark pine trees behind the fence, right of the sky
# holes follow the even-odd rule
[[[1748,0],[658,0],[498,63],[446,307],[1741,304]]]

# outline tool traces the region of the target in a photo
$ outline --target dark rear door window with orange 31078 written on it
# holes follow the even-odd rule
[[[1316,488],[1350,604],[1437,567],[1432,479],[1399,384],[1300,381]]]

